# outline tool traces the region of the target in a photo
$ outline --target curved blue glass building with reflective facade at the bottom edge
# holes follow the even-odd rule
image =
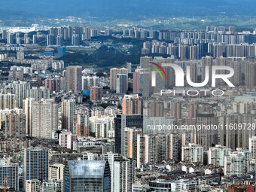
[[[64,169],[65,192],[110,192],[110,167],[104,160],[69,160]]]

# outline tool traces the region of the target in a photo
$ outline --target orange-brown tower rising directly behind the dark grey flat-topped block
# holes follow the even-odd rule
[[[122,114],[143,114],[142,97],[138,94],[123,96]]]

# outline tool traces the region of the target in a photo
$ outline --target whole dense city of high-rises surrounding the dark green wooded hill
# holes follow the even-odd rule
[[[79,46],[102,35],[146,39],[140,63],[97,72],[58,59],[64,44]],[[209,26],[121,33],[63,26],[32,38],[2,31],[8,44],[0,47],[0,188],[255,190],[254,37],[231,26],[228,32]],[[33,49],[28,44],[39,40],[47,41],[46,52],[57,45],[58,55],[27,54]],[[173,66],[184,74],[178,76]],[[234,86],[215,81],[213,67],[233,69],[228,81]],[[220,69],[217,75],[229,75]],[[184,87],[176,86],[179,81]],[[193,87],[189,81],[206,84]]]

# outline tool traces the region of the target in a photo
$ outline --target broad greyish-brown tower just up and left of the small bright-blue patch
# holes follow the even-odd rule
[[[78,93],[82,90],[82,67],[66,67],[66,89]]]

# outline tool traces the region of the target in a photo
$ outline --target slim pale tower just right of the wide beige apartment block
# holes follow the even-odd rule
[[[61,102],[62,130],[73,130],[73,115],[75,114],[75,99],[65,99]]]

